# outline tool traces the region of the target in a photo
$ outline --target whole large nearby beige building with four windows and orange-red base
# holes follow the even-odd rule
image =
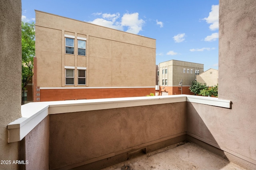
[[[36,10],[34,101],[154,93],[156,40]]]

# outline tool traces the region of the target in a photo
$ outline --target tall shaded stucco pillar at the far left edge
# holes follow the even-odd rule
[[[18,160],[18,142],[8,144],[7,125],[21,116],[21,1],[0,1],[0,160]],[[17,169],[0,164],[0,169]]]

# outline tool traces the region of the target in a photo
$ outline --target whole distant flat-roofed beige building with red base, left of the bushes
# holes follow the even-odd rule
[[[193,95],[189,87],[196,76],[204,72],[204,65],[170,60],[159,63],[159,95]],[[179,83],[182,79],[182,88]]]

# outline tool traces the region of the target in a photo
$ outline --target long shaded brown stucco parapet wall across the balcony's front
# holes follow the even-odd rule
[[[50,167],[122,153],[185,131],[186,102],[50,115]]]

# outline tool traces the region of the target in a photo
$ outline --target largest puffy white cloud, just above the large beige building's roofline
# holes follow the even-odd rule
[[[123,31],[127,27],[126,32],[132,34],[138,34],[142,30],[144,20],[139,19],[139,14],[137,12],[132,14],[124,14],[120,20],[120,14],[107,14],[107,13],[93,13],[94,15],[102,15],[102,18],[96,18],[93,21],[89,21],[92,24],[97,24],[100,26],[105,26],[108,28],[113,28],[116,30]]]

